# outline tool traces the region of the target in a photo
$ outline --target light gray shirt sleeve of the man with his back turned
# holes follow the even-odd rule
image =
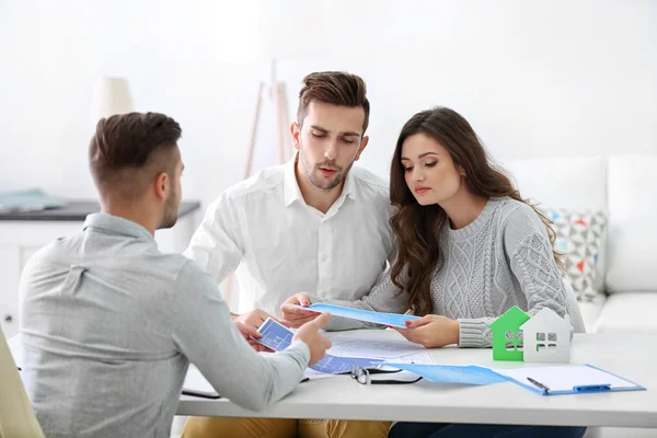
[[[217,392],[261,411],[301,381],[310,360],[302,342],[274,355],[258,355],[242,337],[217,286],[189,261],[171,297],[174,342]]]

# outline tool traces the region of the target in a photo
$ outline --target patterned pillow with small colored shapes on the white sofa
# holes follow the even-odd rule
[[[603,211],[549,210],[556,232],[554,246],[563,254],[564,274],[573,285],[578,301],[592,301],[596,290],[597,265],[607,227]]]

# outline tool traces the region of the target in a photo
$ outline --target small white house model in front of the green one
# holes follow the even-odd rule
[[[526,362],[568,364],[570,361],[570,316],[561,318],[543,308],[520,325]]]

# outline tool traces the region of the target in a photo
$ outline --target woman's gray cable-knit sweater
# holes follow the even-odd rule
[[[542,308],[561,316],[570,313],[548,231],[527,204],[492,198],[469,226],[445,227],[439,244],[443,264],[431,280],[433,313],[459,322],[459,346],[489,347],[488,324],[514,306],[530,314]],[[389,275],[359,301],[312,298],[313,302],[390,313],[407,311],[407,300]],[[371,324],[333,318],[326,328],[364,326]]]

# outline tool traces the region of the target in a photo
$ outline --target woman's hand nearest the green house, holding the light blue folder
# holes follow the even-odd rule
[[[427,348],[459,343],[459,322],[447,316],[426,315],[419,320],[407,321],[406,326],[407,328],[391,328],[400,332],[406,339]]]

